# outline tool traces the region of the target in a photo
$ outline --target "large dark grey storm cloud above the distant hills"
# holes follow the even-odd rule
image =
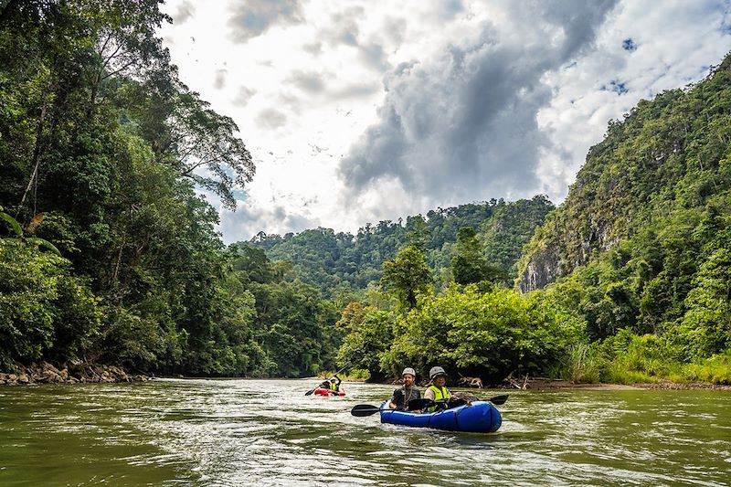
[[[347,191],[396,179],[406,196],[436,202],[531,195],[551,144],[536,121],[552,99],[543,77],[590,48],[614,5],[514,5],[502,26],[484,20],[440,56],[392,69],[377,122],[340,163]]]

